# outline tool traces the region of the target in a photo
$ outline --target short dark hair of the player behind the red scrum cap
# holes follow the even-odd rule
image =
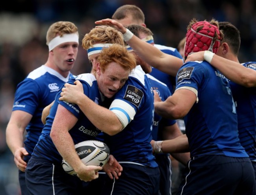
[[[219,22],[219,29],[223,32],[223,40],[221,43],[226,42],[232,52],[238,55],[241,44],[239,30],[230,22]]]

